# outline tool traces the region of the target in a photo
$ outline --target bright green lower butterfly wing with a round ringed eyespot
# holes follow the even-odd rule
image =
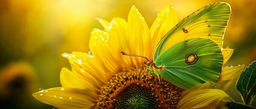
[[[189,61],[195,56],[195,61]],[[189,63],[190,62],[190,63]],[[163,67],[160,76],[183,89],[203,84],[215,84],[222,67],[221,49],[211,39],[192,38],[178,42],[157,57],[155,65]]]

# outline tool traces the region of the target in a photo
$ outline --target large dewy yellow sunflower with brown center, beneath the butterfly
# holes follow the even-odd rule
[[[122,56],[125,51],[150,59],[162,36],[177,24],[172,4],[158,14],[151,28],[135,6],[128,21],[99,19],[104,31],[93,29],[88,53],[63,53],[72,71],[63,68],[62,87],[40,89],[33,96],[59,109],[215,109],[231,101],[224,90],[237,80],[244,65],[222,68],[217,83],[184,90],[155,75],[145,74],[143,59]],[[233,49],[221,49],[224,63]]]

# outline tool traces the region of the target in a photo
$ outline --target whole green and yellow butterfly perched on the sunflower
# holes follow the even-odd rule
[[[208,81],[215,84],[223,64],[221,46],[230,12],[230,5],[222,2],[198,9],[163,36],[153,60],[139,57],[147,59],[149,73],[183,89]]]

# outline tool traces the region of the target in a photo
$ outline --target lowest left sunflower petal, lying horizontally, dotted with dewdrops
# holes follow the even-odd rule
[[[58,109],[90,109],[97,94],[90,89],[56,87],[32,94],[34,98]]]

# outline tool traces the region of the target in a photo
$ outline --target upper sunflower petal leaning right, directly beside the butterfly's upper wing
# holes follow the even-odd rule
[[[157,15],[156,20],[150,28],[152,37],[151,45],[153,45],[153,49],[157,47],[157,44],[162,37],[175,25],[177,25],[177,15],[174,11],[172,3],[170,3],[162,8],[161,12]]]

